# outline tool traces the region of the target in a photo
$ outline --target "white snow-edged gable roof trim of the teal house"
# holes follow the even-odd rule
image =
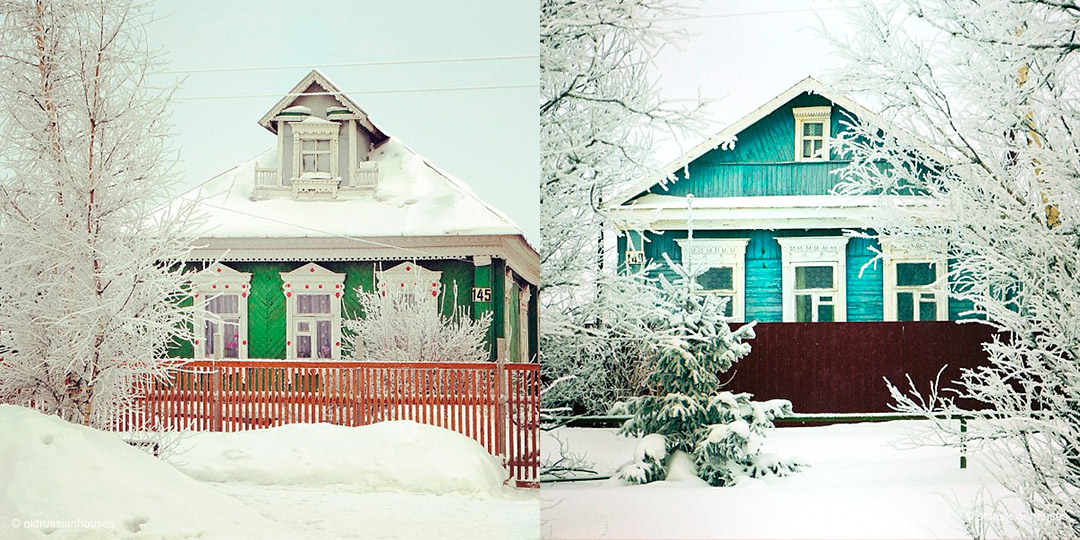
[[[704,156],[705,153],[712,151],[717,147],[724,145],[733,145],[735,141],[735,137],[740,133],[742,133],[743,130],[750,127],[751,125],[754,125],[754,123],[756,123],[757,121],[771,114],[777,109],[783,107],[792,99],[795,99],[796,97],[805,93],[821,95],[822,97],[825,97],[829,102],[833,102],[835,105],[838,105],[847,109],[848,111],[852,112],[860,120],[880,126],[888,133],[892,133],[894,135],[903,134],[912,141],[914,141],[916,148],[919,151],[926,153],[927,156],[930,156],[932,159],[937,160],[941,163],[946,162],[945,154],[943,154],[939,150],[927,145],[926,143],[922,143],[921,140],[912,136],[904,130],[894,126],[892,122],[886,120],[885,118],[867,109],[866,107],[859,105],[848,96],[845,96],[843,94],[840,94],[836,90],[833,90],[832,87],[822,84],[812,77],[807,77],[806,79],[802,79],[801,81],[796,83],[794,86],[781,92],[780,95],[773,97],[765,105],[758,107],[757,109],[754,109],[754,111],[751,112],[750,114],[746,114],[745,117],[737,120],[734,123],[728,125],[716,135],[708,137],[698,146],[691,148],[688,152],[684,153],[683,156],[679,156],[671,163],[661,167],[654,174],[649,175],[644,179],[642,179],[640,181],[635,183],[630,188],[616,195],[609,207],[621,206],[631,199],[634,199],[638,194],[647,191],[652,186],[656,186],[657,184],[666,181],[677,181],[678,177],[675,176],[675,173],[685,167],[687,164],[689,164],[693,160]]]

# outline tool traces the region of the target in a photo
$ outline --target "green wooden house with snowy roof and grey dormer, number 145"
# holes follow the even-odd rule
[[[383,132],[318,70],[259,120],[276,144],[191,194],[193,337],[181,357],[339,360],[357,289],[492,312],[488,348],[537,357],[537,252],[504,214]],[[378,361],[379,359],[364,359]]]

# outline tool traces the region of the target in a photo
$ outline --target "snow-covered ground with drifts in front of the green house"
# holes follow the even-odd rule
[[[179,440],[170,461],[0,405],[0,539],[527,539],[535,491],[472,440],[414,422]]]

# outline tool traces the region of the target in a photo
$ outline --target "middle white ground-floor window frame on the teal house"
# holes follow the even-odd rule
[[[783,321],[793,323],[795,313],[795,268],[832,266],[833,286],[833,321],[848,320],[848,284],[847,284],[847,237],[788,237],[778,238],[781,249],[781,284],[783,287]],[[825,294],[824,289],[807,289],[812,294]],[[818,319],[818,302],[811,307],[811,321]]]

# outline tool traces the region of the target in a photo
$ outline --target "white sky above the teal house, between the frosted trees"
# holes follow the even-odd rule
[[[702,1],[691,17],[667,23],[690,36],[657,57],[661,94],[669,99],[712,100],[710,127],[700,135],[664,141],[664,165],[772,99],[807,76],[828,83],[838,69],[832,44],[821,33],[848,28],[837,0]]]

